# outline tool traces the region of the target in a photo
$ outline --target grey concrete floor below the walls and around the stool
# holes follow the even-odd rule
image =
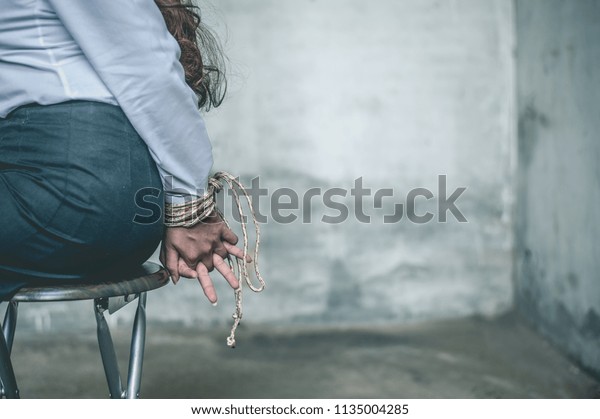
[[[600,381],[514,314],[351,329],[249,325],[233,350],[227,333],[149,325],[142,397],[600,397]],[[113,339],[124,373],[128,334]],[[13,351],[24,398],[107,396],[93,330],[18,330]]]

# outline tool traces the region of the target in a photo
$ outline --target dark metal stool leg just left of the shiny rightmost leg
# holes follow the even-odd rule
[[[96,324],[98,333],[98,345],[100,346],[100,355],[104,365],[104,373],[108,382],[108,390],[112,399],[123,397],[123,386],[121,385],[121,375],[119,374],[119,363],[113,345],[112,337],[108,323],[104,318],[104,311],[108,306],[106,298],[97,298],[94,300],[94,312],[96,313]]]

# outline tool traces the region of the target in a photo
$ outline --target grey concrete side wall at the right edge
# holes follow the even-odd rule
[[[600,372],[600,1],[517,2],[519,308]]]

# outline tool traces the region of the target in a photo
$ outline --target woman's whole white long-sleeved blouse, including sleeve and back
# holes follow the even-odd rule
[[[211,144],[179,54],[154,0],[0,0],[0,117],[29,103],[118,105],[167,195],[201,195]]]

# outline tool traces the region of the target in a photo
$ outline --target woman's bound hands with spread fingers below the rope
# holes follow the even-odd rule
[[[217,293],[208,273],[216,268],[233,289],[239,287],[238,279],[225,262],[227,255],[244,257],[244,252],[235,246],[237,241],[221,217],[213,214],[193,227],[167,227],[160,261],[175,284],[180,276],[198,278],[208,300],[216,304]],[[247,256],[246,262],[251,261]]]

